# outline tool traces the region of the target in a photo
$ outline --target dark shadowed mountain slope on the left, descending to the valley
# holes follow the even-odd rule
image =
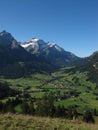
[[[34,72],[50,72],[55,69],[45,60],[27,52],[6,31],[0,33],[0,61],[0,75],[7,78],[25,77]]]

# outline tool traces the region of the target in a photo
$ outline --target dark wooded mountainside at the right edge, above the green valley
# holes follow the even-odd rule
[[[88,80],[98,84],[98,51],[84,58],[80,64],[69,70],[69,72],[73,73],[76,71],[86,72]]]

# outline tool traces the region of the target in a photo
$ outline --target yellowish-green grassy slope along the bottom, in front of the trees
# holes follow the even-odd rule
[[[61,118],[0,114],[0,130],[98,130],[95,124]]]

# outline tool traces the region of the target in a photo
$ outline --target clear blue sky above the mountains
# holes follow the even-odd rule
[[[0,0],[0,31],[52,41],[85,57],[98,50],[98,0]]]

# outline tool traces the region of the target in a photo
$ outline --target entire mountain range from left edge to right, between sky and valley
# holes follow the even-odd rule
[[[52,42],[33,38],[19,43],[10,33],[0,32],[0,75],[3,77],[19,78],[33,73],[51,73],[69,65],[76,65],[80,71],[88,71],[89,79],[95,81],[98,76],[98,51],[90,57],[79,58]]]

